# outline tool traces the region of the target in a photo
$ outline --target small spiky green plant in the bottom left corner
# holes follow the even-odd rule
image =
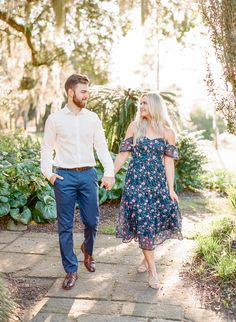
[[[13,317],[15,308],[16,304],[5,286],[2,276],[0,276],[0,321],[8,322]]]

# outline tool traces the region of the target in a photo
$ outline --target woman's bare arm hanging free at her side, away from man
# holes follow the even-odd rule
[[[165,137],[169,144],[175,145],[176,138],[175,138],[175,132],[173,130],[166,131]],[[174,177],[175,177],[174,159],[169,156],[165,156],[164,166],[166,171],[166,180],[169,188],[170,198],[172,201],[174,200],[178,201],[178,196],[174,191]]]

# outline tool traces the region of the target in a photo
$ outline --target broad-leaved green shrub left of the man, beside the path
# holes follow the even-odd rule
[[[56,218],[54,192],[43,178],[40,145],[24,133],[0,135],[0,217],[17,222]]]

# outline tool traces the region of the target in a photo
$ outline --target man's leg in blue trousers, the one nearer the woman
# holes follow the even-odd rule
[[[81,219],[85,225],[83,251],[92,256],[99,223],[97,173],[95,169],[89,169],[80,172],[79,176],[78,202]]]

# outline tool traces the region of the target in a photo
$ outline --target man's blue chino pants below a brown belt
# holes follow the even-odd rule
[[[97,173],[91,168],[84,171],[58,169],[57,174],[64,178],[56,178],[54,183],[62,264],[66,273],[76,272],[78,259],[73,243],[75,203],[79,204],[85,226],[84,247],[92,255],[99,223]]]

